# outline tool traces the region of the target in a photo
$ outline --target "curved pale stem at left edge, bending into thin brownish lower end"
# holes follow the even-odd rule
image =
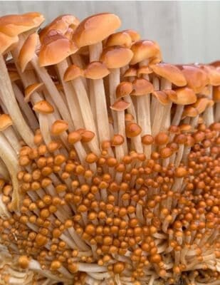
[[[4,161],[7,169],[9,170],[11,176],[11,182],[13,185],[13,194],[12,194],[12,204],[14,209],[19,208],[19,181],[17,180],[17,172],[19,170],[19,162],[16,157],[16,153],[12,149],[9,142],[7,142],[4,135],[0,133],[0,157]]]

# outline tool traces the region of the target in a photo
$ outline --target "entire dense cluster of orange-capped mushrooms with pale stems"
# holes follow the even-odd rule
[[[219,63],[42,21],[0,18],[0,284],[220,284]]]

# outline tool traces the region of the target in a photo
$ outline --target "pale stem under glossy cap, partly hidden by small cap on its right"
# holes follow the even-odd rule
[[[70,115],[73,119],[73,124],[75,129],[84,128],[83,118],[80,113],[80,106],[78,103],[78,98],[76,97],[75,90],[73,89],[73,85],[70,82],[63,81],[63,76],[68,68],[67,61],[61,61],[61,63],[57,64],[58,73],[61,78],[61,83],[63,85],[64,93],[66,95],[66,100],[68,106],[70,106]]]

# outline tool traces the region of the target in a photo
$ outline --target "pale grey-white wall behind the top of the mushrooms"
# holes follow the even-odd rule
[[[60,14],[84,19],[110,11],[122,28],[157,41],[164,61],[208,63],[220,59],[220,1],[0,1],[0,16],[39,11],[51,21]]]

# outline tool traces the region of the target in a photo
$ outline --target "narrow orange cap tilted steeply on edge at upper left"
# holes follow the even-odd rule
[[[39,36],[38,33],[32,33],[28,36],[26,41],[23,43],[21,51],[19,53],[18,63],[21,67],[21,71],[23,72],[29,61],[33,58],[36,53],[36,48],[39,44]]]

